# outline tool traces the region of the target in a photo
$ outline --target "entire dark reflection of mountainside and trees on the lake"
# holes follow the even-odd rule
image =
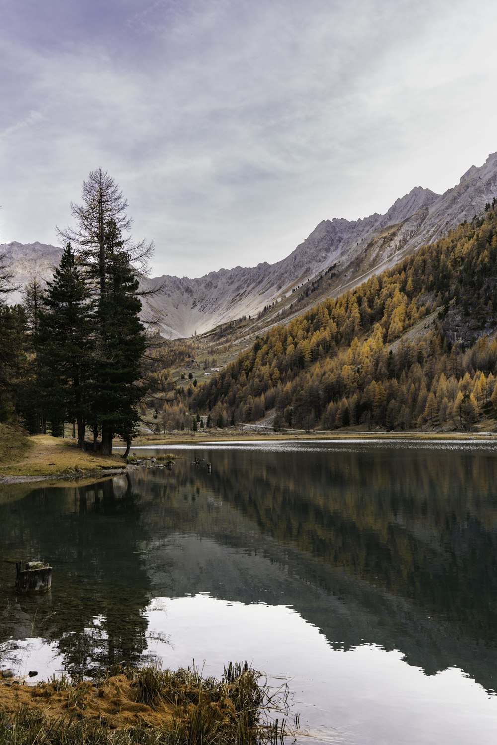
[[[428,674],[456,666],[495,688],[491,454],[200,457],[212,474],[178,459],[171,472],[0,500],[4,556],[57,567],[49,607],[35,613],[7,590],[12,567],[2,565],[0,641],[43,623],[75,669],[133,659],[146,646],[151,597],[209,592],[294,606],[334,647],[381,644]]]

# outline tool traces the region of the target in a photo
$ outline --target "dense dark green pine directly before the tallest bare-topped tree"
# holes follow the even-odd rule
[[[106,224],[105,274],[104,292],[98,299],[92,421],[94,429],[101,430],[102,453],[112,453],[113,437],[118,434],[127,443],[127,457],[139,422],[137,404],[144,393],[139,380],[145,329],[139,320],[139,283],[114,220]]]

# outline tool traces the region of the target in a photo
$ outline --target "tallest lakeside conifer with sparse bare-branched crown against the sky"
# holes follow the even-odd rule
[[[75,228],[57,230],[75,246],[95,297],[91,424],[95,446],[101,431],[102,452],[110,454],[115,434],[124,437],[129,450],[138,422],[142,390],[137,381],[145,338],[136,273],[145,270],[153,244],[136,243],[129,235],[133,220],[127,216],[127,200],[107,171],[98,168],[89,174],[82,199],[71,204]]]

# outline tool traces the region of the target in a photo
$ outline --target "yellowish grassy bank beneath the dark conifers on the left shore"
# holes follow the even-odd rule
[[[28,436],[16,428],[0,425],[0,477],[72,477],[123,468],[118,455],[106,457],[83,452],[75,441],[49,434]]]

